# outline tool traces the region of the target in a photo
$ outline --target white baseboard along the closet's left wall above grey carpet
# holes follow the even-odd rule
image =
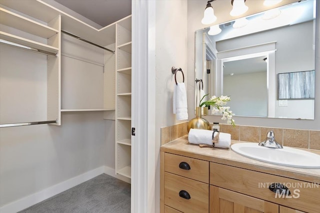
[[[106,169],[107,168],[107,169]],[[21,210],[24,210],[25,208],[28,208],[34,204],[37,204],[45,199],[48,199],[52,196],[55,196],[65,190],[68,190],[76,185],[79,185],[85,181],[88,181],[98,175],[101,175],[103,173],[115,177],[115,173],[113,170],[113,175],[108,174],[111,173],[111,168],[101,166],[94,170],[88,171],[86,173],[83,173],[79,176],[76,176],[74,178],[71,178],[69,180],[66,180],[64,182],[61,182],[59,184],[56,184],[52,187],[48,187],[40,192],[34,193],[32,195],[29,195],[27,197],[24,197],[20,200],[14,201],[10,204],[7,204],[0,208],[0,213],[16,213]],[[108,173],[106,173],[108,172]],[[115,177],[118,178],[118,177]]]

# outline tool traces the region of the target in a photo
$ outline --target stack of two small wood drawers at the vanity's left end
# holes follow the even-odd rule
[[[164,205],[183,213],[207,213],[208,163],[165,153]]]

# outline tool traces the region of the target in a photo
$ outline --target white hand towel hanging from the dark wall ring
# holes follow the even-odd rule
[[[173,90],[173,114],[176,116],[176,120],[187,120],[188,110],[186,101],[186,90],[184,83],[178,83],[174,85]]]

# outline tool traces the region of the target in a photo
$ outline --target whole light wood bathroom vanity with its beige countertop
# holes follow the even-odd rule
[[[160,160],[160,213],[320,212],[320,169],[277,166],[230,149],[200,148],[189,144],[187,136],[161,146]],[[290,193],[269,189],[280,184]]]

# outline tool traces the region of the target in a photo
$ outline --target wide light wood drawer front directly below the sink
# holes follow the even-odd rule
[[[312,184],[294,179],[210,163],[210,184],[259,198],[300,211],[319,213],[319,183]],[[285,185],[291,195],[271,192],[271,184]]]

